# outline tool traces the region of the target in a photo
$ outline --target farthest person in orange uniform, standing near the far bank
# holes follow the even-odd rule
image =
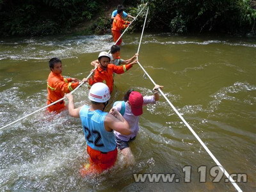
[[[121,36],[121,30],[127,28],[131,23],[129,21],[123,20],[122,15],[123,15],[123,9],[120,8],[117,10],[117,15],[113,21],[113,26],[111,29],[114,42],[116,42],[118,38]],[[116,45],[120,45],[121,43],[122,43],[122,38],[120,38],[120,40],[116,42]]]

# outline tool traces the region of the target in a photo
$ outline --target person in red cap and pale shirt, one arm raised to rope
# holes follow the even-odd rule
[[[134,92],[134,90],[129,90],[124,95],[123,101],[117,101],[114,103],[113,109],[116,109],[121,115],[124,116],[125,120],[130,125],[131,134],[124,135],[122,132],[114,131],[117,147],[120,148],[122,154],[125,156],[126,163],[133,164],[134,156],[131,152],[131,148],[129,147],[129,142],[135,140],[139,127],[139,118],[143,113],[143,106],[147,104],[155,104],[157,100],[159,100],[159,88],[163,88],[163,86],[156,86],[153,88],[154,95],[144,96],[141,95],[140,92]],[[115,111],[110,111],[112,115],[115,114]]]

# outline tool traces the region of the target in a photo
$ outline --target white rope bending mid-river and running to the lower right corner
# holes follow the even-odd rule
[[[148,13],[148,12],[147,12]],[[145,21],[147,19],[147,15],[145,17]],[[141,33],[141,39],[143,36],[143,31],[145,28],[145,22],[144,22],[144,26],[143,26],[143,30]],[[141,39],[140,39],[140,44],[141,44]],[[138,48],[138,52],[140,51],[140,45]],[[138,60],[138,56],[137,56],[137,60]],[[142,67],[142,65],[140,64],[140,62],[138,61],[138,64],[140,65],[140,67],[142,68],[142,70],[145,72],[145,74],[147,74],[148,78],[150,79],[150,81],[152,81],[152,83],[156,86],[156,83],[154,82],[154,80],[148,75],[147,71],[145,70],[145,68]],[[236,182],[232,179],[232,177],[230,177],[230,175],[228,174],[227,170],[225,170],[225,168],[220,164],[220,162],[218,161],[218,159],[216,159],[216,157],[212,154],[212,152],[209,150],[209,148],[204,144],[204,142],[199,138],[199,136],[196,134],[196,132],[190,127],[190,125],[188,124],[188,122],[186,122],[186,120],[183,118],[182,115],[180,115],[179,111],[175,108],[175,106],[173,106],[172,102],[170,102],[170,100],[166,97],[166,95],[163,93],[163,91],[159,88],[158,89],[159,92],[163,95],[164,99],[167,100],[168,104],[170,104],[170,106],[172,107],[172,109],[175,111],[175,113],[179,116],[179,118],[182,120],[182,122],[184,122],[184,124],[188,127],[189,131],[192,132],[192,134],[195,136],[195,138],[199,141],[199,143],[204,147],[204,149],[206,150],[206,152],[209,154],[209,156],[212,157],[213,161],[219,166],[221,172],[223,172],[227,179],[230,180],[230,182],[232,183],[232,185],[234,186],[234,188],[237,189],[237,191],[242,191],[241,188],[239,188],[239,186],[236,184]]]

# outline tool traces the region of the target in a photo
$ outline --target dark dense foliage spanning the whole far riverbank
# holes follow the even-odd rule
[[[254,33],[256,1],[250,0],[129,0],[125,11],[136,16],[148,2],[147,28],[172,33]],[[51,35],[67,33],[77,24],[91,21],[90,33],[110,28],[106,6],[118,1],[100,0],[0,0],[0,35]],[[144,12],[145,13],[145,12]],[[132,30],[140,29],[141,14]],[[97,19],[95,19],[97,18]]]

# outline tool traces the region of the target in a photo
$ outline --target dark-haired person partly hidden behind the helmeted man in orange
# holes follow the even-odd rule
[[[120,58],[120,46],[118,45],[112,45],[111,49],[110,49],[110,61],[109,63],[114,64],[114,65],[127,65],[129,63],[132,63],[132,61],[136,60],[136,56],[138,56],[138,54],[134,54],[134,56],[132,56],[132,58],[130,58],[129,60],[122,60]],[[91,62],[92,66],[97,67],[99,65],[99,60],[95,60]]]

